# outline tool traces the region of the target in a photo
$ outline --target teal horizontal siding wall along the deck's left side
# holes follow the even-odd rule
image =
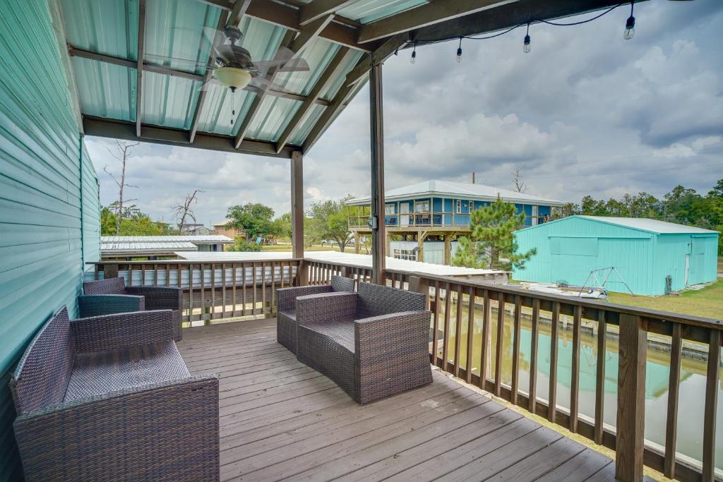
[[[1,481],[21,473],[11,370],[54,311],[76,314],[82,261],[99,259],[100,238],[98,181],[81,155],[48,5],[0,0],[0,12]]]

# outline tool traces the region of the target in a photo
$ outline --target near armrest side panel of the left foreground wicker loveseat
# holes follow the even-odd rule
[[[218,480],[213,375],[23,413],[14,429],[27,480]]]

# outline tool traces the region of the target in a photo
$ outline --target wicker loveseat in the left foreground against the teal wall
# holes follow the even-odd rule
[[[27,481],[216,481],[218,378],[192,376],[170,310],[38,332],[10,381]]]

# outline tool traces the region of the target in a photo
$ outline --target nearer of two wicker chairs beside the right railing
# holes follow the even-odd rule
[[[432,382],[424,295],[359,283],[359,293],[296,298],[299,361],[356,402]]]

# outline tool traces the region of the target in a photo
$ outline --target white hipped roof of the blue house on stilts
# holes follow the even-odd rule
[[[509,189],[500,189],[484,184],[466,184],[463,182],[452,181],[424,181],[409,186],[390,189],[385,192],[385,200],[407,199],[410,197],[422,196],[447,196],[447,197],[463,197],[465,199],[481,199],[484,201],[494,201],[497,196],[505,201],[518,202],[521,204],[545,204],[552,206],[562,206],[565,202],[557,199],[549,199],[547,197],[533,196],[524,192],[510,191]],[[371,202],[371,197],[358,197],[346,202],[347,205],[364,205]]]

